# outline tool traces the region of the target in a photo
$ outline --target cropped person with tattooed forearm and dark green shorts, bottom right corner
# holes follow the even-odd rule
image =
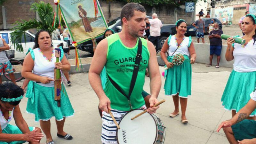
[[[256,121],[246,119],[256,108],[256,91],[250,94],[251,99],[236,115],[222,122],[217,132],[223,128],[229,143],[256,143]]]

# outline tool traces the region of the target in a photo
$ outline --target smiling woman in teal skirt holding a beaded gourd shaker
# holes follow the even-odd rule
[[[175,106],[175,110],[169,116],[175,117],[179,115],[180,100],[181,122],[188,123],[185,113],[188,102],[187,98],[191,95],[191,64],[195,63],[196,52],[191,37],[184,36],[187,31],[185,20],[178,20],[176,22],[176,30],[177,34],[169,36],[161,50],[161,57],[169,68],[165,71],[164,91],[165,95],[172,96]],[[169,53],[168,58],[165,55],[166,51]],[[176,54],[182,54],[185,59],[183,64],[179,66],[174,66],[172,63],[172,59]]]

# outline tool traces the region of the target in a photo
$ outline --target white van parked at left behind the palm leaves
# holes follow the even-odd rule
[[[25,36],[26,36],[26,43],[25,43],[25,39],[24,37],[22,36],[22,39],[21,39],[21,44],[22,44],[22,47],[23,47],[23,52],[18,52],[15,48],[14,48],[14,45],[12,44],[11,42],[11,36],[10,36],[10,33],[12,31],[0,31],[0,37],[3,38],[6,43],[10,46],[10,48],[13,50],[15,50],[15,58],[14,59],[17,59],[17,60],[24,60],[25,56],[26,56],[26,53],[28,52],[28,49],[29,48],[33,48],[34,46],[34,41],[35,41],[35,35],[33,33],[31,33],[30,31],[26,31],[25,32]],[[60,41],[60,40],[52,40],[52,44],[53,44],[53,47],[57,47],[58,44],[60,43],[63,43],[63,49],[65,48],[68,48],[68,44],[64,41]]]

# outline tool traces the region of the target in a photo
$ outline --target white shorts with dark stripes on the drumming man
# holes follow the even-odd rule
[[[143,105],[141,108],[147,109],[146,105]],[[122,117],[128,111],[121,111],[116,109],[111,109],[113,116],[116,119],[116,122],[119,123]],[[102,131],[101,131],[101,141],[102,144],[117,144],[116,141],[116,124],[111,118],[110,114],[102,112]]]

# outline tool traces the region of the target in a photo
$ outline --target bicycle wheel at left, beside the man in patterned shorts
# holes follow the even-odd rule
[[[23,62],[21,62],[20,60],[15,60],[15,59],[10,59],[10,62],[12,64],[15,81],[19,82],[20,80],[23,79],[23,77],[21,76],[21,69],[22,69]],[[3,72],[3,74],[9,81],[11,81],[11,78],[7,72]]]

